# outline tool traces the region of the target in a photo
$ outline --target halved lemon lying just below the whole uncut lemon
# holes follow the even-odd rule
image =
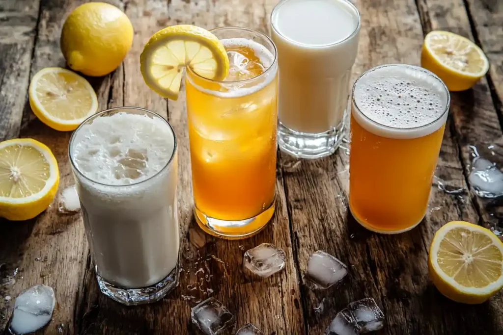
[[[30,106],[47,126],[71,131],[98,110],[91,84],[78,74],[59,67],[37,72],[30,83]]]

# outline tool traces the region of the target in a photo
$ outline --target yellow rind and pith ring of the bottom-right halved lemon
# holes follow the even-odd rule
[[[440,247],[440,243],[443,241],[443,238],[445,235],[451,231],[452,229],[455,228],[463,228],[470,230],[472,232],[480,232],[484,233],[487,237],[489,237],[493,241],[493,245],[496,246],[501,254],[503,254],[503,243],[495,236],[491,231],[488,229],[485,229],[483,227],[473,225],[473,224],[468,224],[465,222],[452,222],[450,224],[444,225],[441,227],[437,233],[435,234],[435,237],[433,238],[432,245],[430,247],[430,258],[431,258],[431,264],[435,268],[435,272],[437,275],[444,280],[447,284],[449,284],[451,287],[453,287],[455,290],[457,290],[459,293],[462,294],[467,294],[467,295],[476,295],[476,296],[485,296],[487,294],[491,294],[492,292],[498,290],[503,286],[503,273],[500,275],[500,277],[492,282],[491,284],[477,288],[477,287],[467,287],[459,284],[457,281],[455,281],[452,277],[449,277],[438,265],[438,257],[437,257],[437,252]],[[487,234],[489,233],[489,234]],[[501,262],[501,266],[503,266],[503,261]]]

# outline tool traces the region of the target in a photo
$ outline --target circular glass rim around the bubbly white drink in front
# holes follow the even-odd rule
[[[161,119],[162,121],[164,121],[164,123],[170,128],[172,134],[173,134],[173,152],[171,154],[171,157],[170,159],[166,162],[166,164],[164,164],[164,166],[159,169],[159,171],[155,172],[153,175],[151,175],[150,177],[146,178],[146,179],[143,179],[143,180],[140,180],[140,181],[137,181],[137,182],[134,182],[134,183],[131,183],[131,184],[124,184],[124,185],[111,185],[111,184],[106,184],[106,183],[103,183],[103,182],[100,182],[100,181],[96,181],[88,176],[86,176],[84,173],[82,173],[77,165],[75,164],[75,162],[73,161],[73,155],[72,155],[72,145],[73,145],[73,142],[75,141],[75,137],[76,137],[76,134],[78,133],[78,131],[80,130],[80,128],[82,128],[83,126],[89,124],[90,121],[93,121],[94,119],[97,119],[97,118],[100,118],[102,117],[103,115],[107,114],[107,113],[110,113],[110,112],[116,112],[118,113],[119,111],[127,111],[127,110],[136,110],[136,111],[141,111],[143,113],[145,113],[146,115],[149,115],[149,116],[152,116],[153,118],[158,118],[158,119]],[[108,109],[105,109],[105,110],[102,110],[96,114],[93,114],[92,116],[90,116],[89,118],[87,118],[86,120],[82,121],[80,123],[80,125],[78,125],[78,127],[73,131],[73,133],[71,134],[71,137],[70,137],[70,141],[68,142],[68,157],[69,157],[69,160],[70,160],[70,164],[71,164],[71,167],[72,167],[72,170],[75,171],[76,173],[78,173],[78,175],[80,177],[82,177],[83,179],[86,179],[88,181],[91,181],[95,184],[98,184],[98,185],[101,185],[101,186],[106,186],[106,187],[127,187],[127,186],[134,186],[134,185],[140,185],[144,182],[147,182],[153,178],[155,178],[157,175],[159,175],[161,172],[165,171],[166,168],[170,167],[172,165],[172,162],[175,158],[175,154],[177,152],[177,146],[178,146],[178,143],[177,143],[177,136],[175,134],[175,130],[173,129],[173,127],[171,126],[171,124],[169,122],[167,122],[166,119],[164,119],[163,117],[161,117],[160,115],[158,115],[157,113],[151,111],[151,110],[148,110],[148,109],[145,109],[145,108],[141,108],[141,107],[135,107],[135,106],[121,106],[121,107],[113,107],[113,108],[108,108]]]

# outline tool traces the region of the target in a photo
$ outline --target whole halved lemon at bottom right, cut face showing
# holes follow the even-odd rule
[[[452,221],[435,233],[428,265],[438,290],[457,302],[482,303],[503,287],[503,243],[468,222]]]

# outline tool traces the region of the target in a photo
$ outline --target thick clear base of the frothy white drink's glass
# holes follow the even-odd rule
[[[180,262],[177,263],[175,269],[167,277],[157,284],[141,288],[116,287],[103,279],[98,274],[96,267],[95,271],[98,285],[103,294],[126,306],[134,306],[159,301],[173,288],[177,287],[179,266]]]

